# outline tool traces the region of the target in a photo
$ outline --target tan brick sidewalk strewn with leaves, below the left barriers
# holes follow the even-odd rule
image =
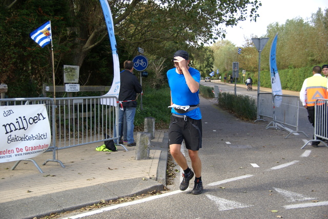
[[[151,144],[162,142],[165,132],[156,130]],[[52,159],[52,152],[33,158],[44,173],[30,161],[20,162],[14,170],[11,168],[16,161],[0,163],[0,203],[118,180],[156,177],[161,151],[152,149],[152,145],[148,160],[135,160],[135,147],[127,147],[129,151],[121,146],[116,152],[96,151],[95,147],[99,145],[58,150],[56,159],[63,162],[65,168],[56,162],[42,165]]]

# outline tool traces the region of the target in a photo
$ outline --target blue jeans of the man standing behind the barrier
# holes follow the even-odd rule
[[[128,137],[128,144],[134,142],[133,138],[133,130],[134,130],[134,115],[135,115],[136,107],[126,106],[121,108],[118,111],[118,133],[122,133],[122,124],[124,122],[124,114],[127,117],[127,137]],[[116,122],[115,122],[116,125]],[[114,136],[116,136],[116,128],[114,128]],[[116,140],[114,140],[115,143]]]

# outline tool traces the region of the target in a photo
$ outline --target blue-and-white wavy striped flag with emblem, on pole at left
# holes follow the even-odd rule
[[[42,48],[48,45],[52,40],[50,20],[30,33],[30,37]]]

